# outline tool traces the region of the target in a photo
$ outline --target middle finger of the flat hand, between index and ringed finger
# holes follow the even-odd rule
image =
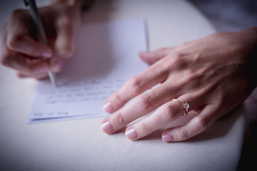
[[[123,108],[105,118],[101,125],[103,132],[111,134],[118,131],[128,123],[166,103],[170,97],[176,97],[179,93],[177,86],[171,87],[165,82],[142,93]]]

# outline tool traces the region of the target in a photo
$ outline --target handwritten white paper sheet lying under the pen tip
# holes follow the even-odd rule
[[[144,20],[83,25],[75,54],[57,75],[38,83],[28,122],[97,117],[111,93],[148,67],[138,56],[147,50]]]

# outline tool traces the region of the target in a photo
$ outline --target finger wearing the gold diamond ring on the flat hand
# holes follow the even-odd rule
[[[198,97],[199,95],[196,93],[187,93],[178,97],[178,99],[184,103],[190,103],[190,110],[192,110],[201,103]],[[185,113],[186,109],[181,103],[169,101],[148,117],[127,127],[125,135],[131,140],[141,139],[153,131],[172,123]]]

